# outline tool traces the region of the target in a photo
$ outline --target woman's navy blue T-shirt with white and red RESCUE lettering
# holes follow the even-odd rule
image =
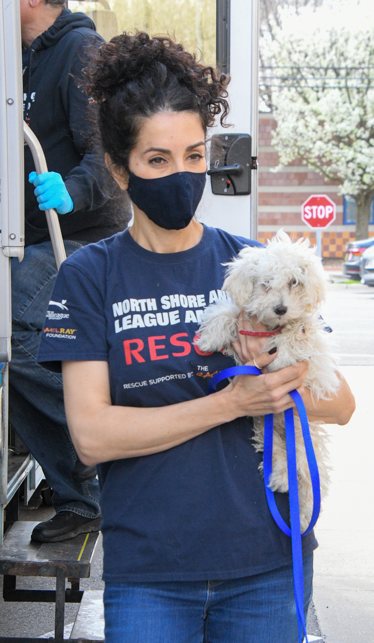
[[[152,253],[129,230],[77,250],[58,272],[37,361],[109,362],[120,406],[206,395],[222,353],[193,346],[204,307],[224,298],[225,262],[257,242],[204,226],[197,246]],[[123,430],[126,430],[124,424]],[[161,453],[98,466],[105,581],[193,581],[258,574],[292,561],[272,519],[262,454],[242,417]],[[276,494],[288,521],[287,494]],[[304,554],[317,547],[303,538]]]

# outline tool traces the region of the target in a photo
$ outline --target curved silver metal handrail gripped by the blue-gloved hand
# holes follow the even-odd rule
[[[25,122],[23,122],[23,138],[30,147],[37,174],[48,172],[46,157],[44,156],[42,146],[40,145],[33,131]],[[51,208],[51,210],[46,210],[46,219],[48,224],[49,237],[51,237],[53,253],[55,255],[58,269],[62,262],[66,259],[66,252],[64,248],[64,241],[62,240],[60,222],[58,221],[56,210],[54,210],[53,208]]]

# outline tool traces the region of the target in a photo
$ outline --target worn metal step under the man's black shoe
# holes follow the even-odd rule
[[[66,577],[88,578],[98,550],[99,533],[80,534],[62,543],[33,543],[31,531],[38,522],[16,521],[0,545],[0,574],[55,576],[66,566]]]

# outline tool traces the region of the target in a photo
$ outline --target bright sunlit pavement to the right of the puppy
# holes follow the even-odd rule
[[[332,485],[316,526],[313,600],[327,643],[373,643],[374,288],[331,276],[323,318],[356,411],[328,426]]]

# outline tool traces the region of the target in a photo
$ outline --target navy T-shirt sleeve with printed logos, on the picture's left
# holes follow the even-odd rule
[[[40,333],[37,363],[55,372],[61,361],[108,361],[103,293],[80,269],[64,262]]]

